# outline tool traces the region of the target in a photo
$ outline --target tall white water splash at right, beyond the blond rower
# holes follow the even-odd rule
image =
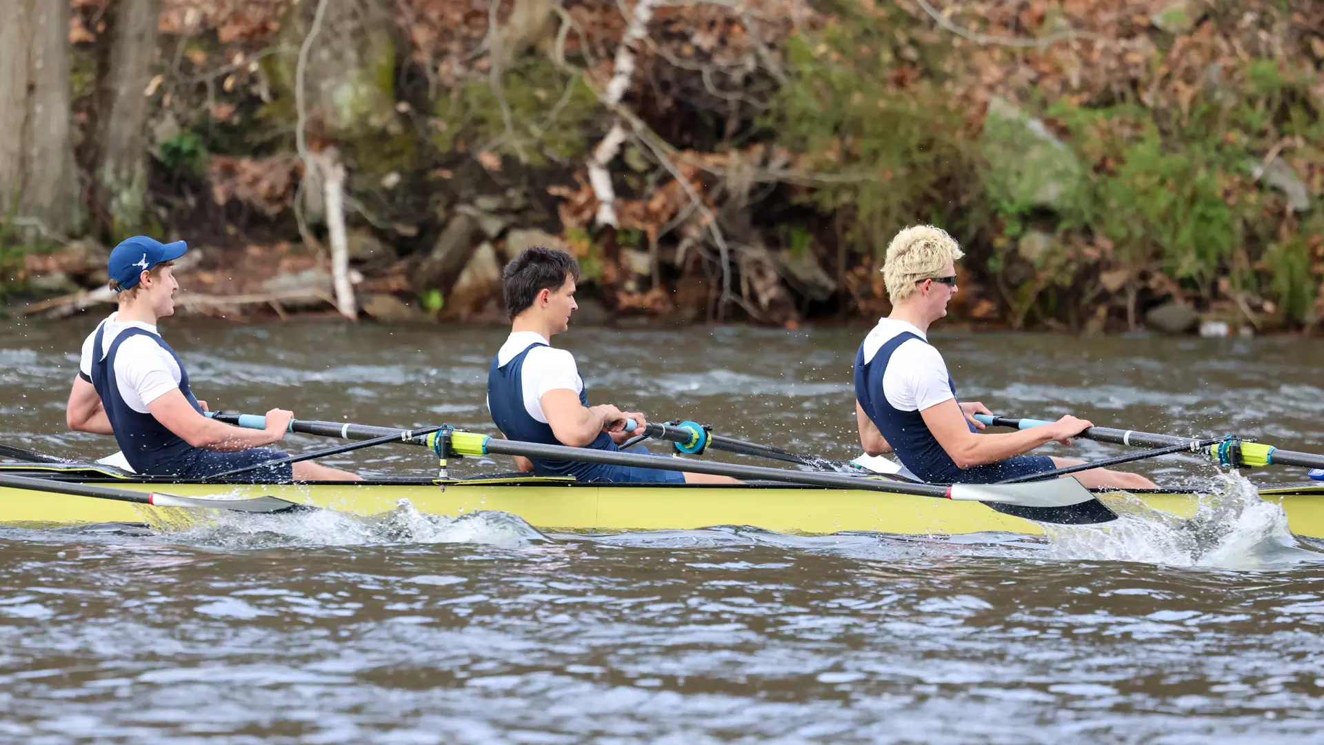
[[[1106,497],[1117,520],[1104,525],[1045,526],[1047,554],[1055,559],[1135,561],[1215,569],[1286,569],[1319,562],[1287,524],[1287,513],[1260,498],[1238,473],[1218,479],[1222,489],[1200,497],[1196,513],[1178,517],[1132,494]]]

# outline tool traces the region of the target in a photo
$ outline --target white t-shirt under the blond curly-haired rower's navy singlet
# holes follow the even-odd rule
[[[887,396],[887,403],[900,411],[924,411],[956,398],[943,355],[927,343],[924,331],[906,321],[879,318],[874,330],[865,337],[865,362],[873,361],[883,345],[906,331],[916,334],[919,339],[907,339],[892,353],[892,359],[883,371],[883,395]]]

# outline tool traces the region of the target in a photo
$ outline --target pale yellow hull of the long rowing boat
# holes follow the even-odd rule
[[[502,510],[547,529],[665,530],[751,525],[780,533],[810,534],[842,530],[898,534],[965,534],[989,530],[1043,533],[1039,524],[994,512],[978,502],[771,484],[641,487],[544,479],[477,479],[445,484],[428,480],[154,484],[130,479],[70,476],[74,475],[61,473],[60,479],[189,497],[270,494],[361,516],[389,512],[402,501],[426,514],[458,516],[477,510]],[[1194,516],[1201,498],[1210,498],[1207,494],[1181,492],[1135,496],[1102,493],[1100,497],[1119,513],[1157,509],[1176,517]],[[1283,506],[1294,533],[1324,538],[1324,485],[1263,488],[1260,497]],[[166,510],[131,502],[0,488],[0,524],[159,522],[166,517],[163,512]]]

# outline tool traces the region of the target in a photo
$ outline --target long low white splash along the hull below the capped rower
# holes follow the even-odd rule
[[[418,512],[400,500],[391,512],[361,517],[330,509],[253,514],[224,510],[152,509],[158,534],[221,549],[357,546],[372,544],[483,544],[523,549],[548,538],[524,520],[498,510],[448,517]]]

